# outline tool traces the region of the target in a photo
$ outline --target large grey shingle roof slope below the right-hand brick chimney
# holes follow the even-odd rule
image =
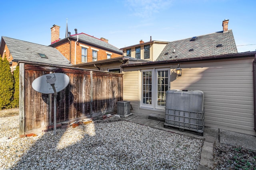
[[[219,44],[222,46],[216,47]],[[230,29],[225,33],[219,31],[201,35],[194,41],[191,41],[191,38],[172,41],[165,46],[156,61],[189,59],[232,53],[238,53],[238,51],[232,29]]]

